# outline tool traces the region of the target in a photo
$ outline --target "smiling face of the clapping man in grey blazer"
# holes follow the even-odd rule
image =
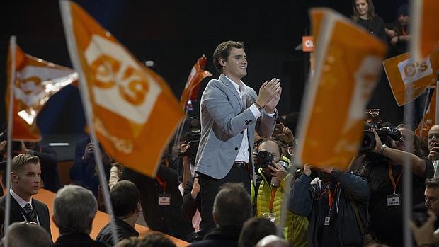
[[[244,49],[232,47],[227,59],[220,58],[222,73],[232,76],[234,79],[241,79],[247,75],[247,56]]]

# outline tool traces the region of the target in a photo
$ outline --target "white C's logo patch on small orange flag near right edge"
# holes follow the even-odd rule
[[[429,58],[424,62],[412,62],[411,59],[406,59],[398,63],[398,69],[404,84],[411,84],[433,73]]]

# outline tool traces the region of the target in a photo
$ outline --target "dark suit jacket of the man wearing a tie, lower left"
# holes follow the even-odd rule
[[[5,206],[6,202],[6,195],[4,197],[0,197],[0,206]],[[40,226],[42,228],[46,229],[46,231],[52,236],[50,233],[50,217],[49,217],[49,208],[44,203],[35,200],[35,198],[32,198],[34,210],[37,212],[38,220],[40,221]],[[9,219],[10,224],[13,222],[24,222],[25,219],[23,217],[23,214],[21,214],[20,211],[20,205],[18,202],[11,196],[11,218]]]

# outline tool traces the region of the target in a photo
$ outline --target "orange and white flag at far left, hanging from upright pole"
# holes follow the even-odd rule
[[[15,54],[14,61],[11,61],[11,49],[9,50],[7,64],[9,88],[6,92],[6,112],[10,104],[10,88],[13,88],[11,137],[27,142],[39,142],[41,134],[37,126],[38,113],[50,96],[76,81],[78,74],[67,67],[25,54],[18,45],[15,46]],[[11,74],[11,66],[15,67],[15,74]],[[13,85],[10,85],[11,79]]]

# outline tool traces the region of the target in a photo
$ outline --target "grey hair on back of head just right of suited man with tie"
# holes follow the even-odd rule
[[[93,193],[78,185],[64,186],[53,201],[53,214],[60,234],[90,234],[97,211],[98,202]]]

